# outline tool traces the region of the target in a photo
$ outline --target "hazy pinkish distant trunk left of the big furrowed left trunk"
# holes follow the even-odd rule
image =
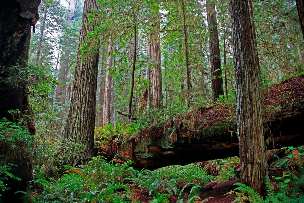
[[[67,18],[67,23],[71,25],[72,23],[72,17],[74,16],[74,9],[75,9],[75,4],[74,0],[70,0],[70,5],[69,5],[69,17]],[[69,41],[70,42],[70,41]],[[68,62],[68,53],[69,50],[65,50],[65,48],[62,49],[61,55],[60,55],[60,65],[59,65],[59,73],[58,73],[58,83],[59,85],[57,86],[56,89],[56,97],[55,99],[59,103],[59,106],[62,104],[65,104],[67,101],[66,96],[68,94],[68,89],[71,89],[71,85],[66,86],[66,82],[68,80],[68,69],[69,69],[69,62]],[[70,91],[71,92],[71,91]],[[70,98],[68,98],[68,101],[70,101]]]

